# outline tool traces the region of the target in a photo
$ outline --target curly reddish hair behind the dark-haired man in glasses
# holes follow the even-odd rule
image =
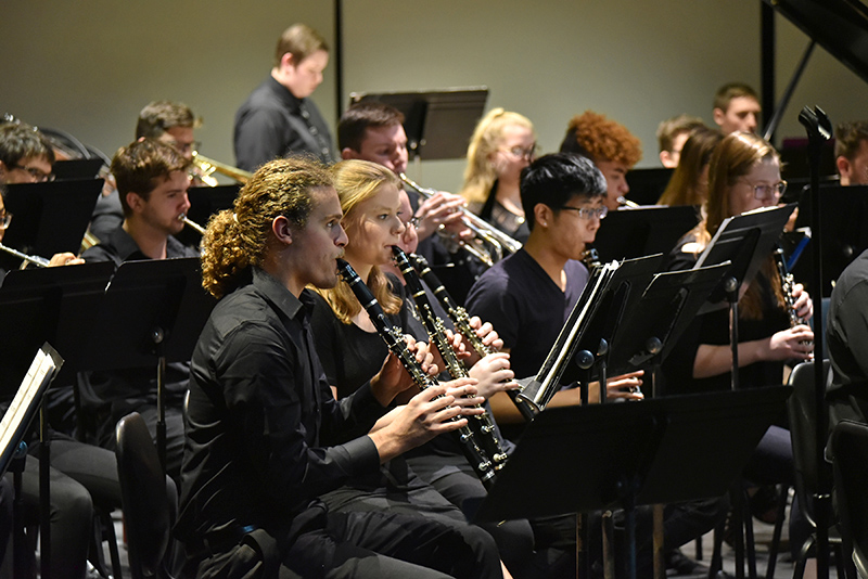
[[[642,158],[642,143],[624,125],[585,111],[570,120],[561,153],[577,153],[595,163],[613,160],[630,168]]]

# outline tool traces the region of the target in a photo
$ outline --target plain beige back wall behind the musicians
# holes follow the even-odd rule
[[[656,165],[661,119],[711,123],[715,89],[760,85],[758,0],[354,0],[344,4],[344,89],[396,91],[485,85],[488,107],[528,116],[544,151],[557,149],[586,108],[642,141],[639,166]],[[493,7],[496,7],[493,8]],[[232,118],[268,73],[280,31],[305,22],[333,43],[324,1],[82,0],[7,2],[0,21],[0,112],[67,130],[106,153],[132,138],[154,99],[187,102],[205,125],[204,154],[234,163]],[[778,91],[807,44],[778,22]],[[315,94],[335,120],[334,67]],[[868,85],[817,49],[779,137],[818,104],[833,121],[865,117]],[[461,162],[423,163],[414,177],[460,185]]]

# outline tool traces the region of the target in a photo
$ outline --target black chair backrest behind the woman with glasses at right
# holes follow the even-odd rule
[[[822,361],[824,386],[830,376],[829,360]],[[819,468],[829,468],[828,463],[817,464],[817,408],[814,381],[814,362],[796,365],[790,374],[793,394],[787,402],[790,417],[790,437],[793,445],[795,492],[802,512],[814,525],[814,501],[819,485]],[[831,473],[829,473],[831,476]]]

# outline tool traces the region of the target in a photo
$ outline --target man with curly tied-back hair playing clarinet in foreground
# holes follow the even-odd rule
[[[448,404],[475,394],[472,381],[456,381],[386,413],[410,386],[391,357],[371,381],[334,399],[314,348],[305,286],[337,282],[335,259],[347,242],[342,216],[322,167],[280,159],[261,167],[233,210],[208,226],[203,285],[220,301],[191,362],[176,528],[187,543],[187,571],[500,577],[487,533],[417,510],[400,493],[388,496],[388,511],[339,512],[319,499],[341,487],[376,492],[359,483],[465,424],[449,422],[460,409]],[[417,359],[424,356],[420,347]]]

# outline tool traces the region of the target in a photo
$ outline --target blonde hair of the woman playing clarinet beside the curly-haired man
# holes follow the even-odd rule
[[[368,160],[342,160],[331,168],[331,176],[341,200],[341,209],[344,211],[341,224],[347,231],[359,222],[358,211],[354,209],[361,202],[376,195],[383,186],[400,188],[400,181],[394,172]],[[350,236],[347,247],[352,245]],[[388,280],[379,267],[371,268],[365,283],[386,313],[397,313],[400,310],[401,300],[392,293]],[[331,290],[316,288],[316,292],[326,299],[337,319],[345,324],[353,323],[353,318],[361,311],[361,304],[343,279]]]

